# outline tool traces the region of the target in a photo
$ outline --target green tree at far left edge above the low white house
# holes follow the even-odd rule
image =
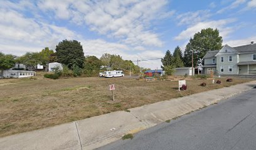
[[[0,52],[0,69],[13,68],[15,64],[15,56],[11,54],[3,54]]]

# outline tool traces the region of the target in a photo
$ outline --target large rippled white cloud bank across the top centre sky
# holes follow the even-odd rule
[[[162,46],[159,35],[149,27],[151,21],[170,17],[174,11],[164,11],[166,0],[149,1],[40,1],[40,8],[55,12],[56,18],[71,19],[92,31],[122,39],[133,46]],[[149,40],[149,38],[151,38]]]

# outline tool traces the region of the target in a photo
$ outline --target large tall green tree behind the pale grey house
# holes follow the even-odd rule
[[[207,51],[221,49],[222,41],[218,29],[201,29],[201,32],[197,32],[186,45],[184,60],[187,61],[186,63],[184,61],[185,66],[191,66],[191,58],[188,57],[192,55],[192,52],[194,55],[194,66],[203,64],[202,58]]]

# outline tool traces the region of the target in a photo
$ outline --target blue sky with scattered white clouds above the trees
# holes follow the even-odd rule
[[[1,0],[0,51],[21,56],[75,39],[86,56],[163,58],[176,46],[184,51],[189,39],[207,27],[217,28],[229,46],[256,42],[255,14],[256,0]],[[161,60],[139,66],[159,69]]]

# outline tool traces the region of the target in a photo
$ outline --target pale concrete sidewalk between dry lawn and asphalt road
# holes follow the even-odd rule
[[[95,149],[168,119],[248,91],[256,81],[0,138],[0,149]]]

